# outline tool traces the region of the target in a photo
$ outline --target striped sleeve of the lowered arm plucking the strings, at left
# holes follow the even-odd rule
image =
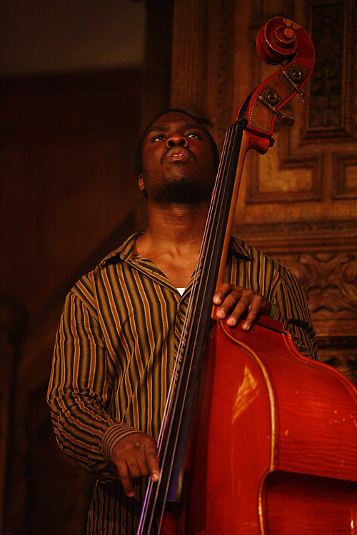
[[[73,292],[66,297],[56,335],[47,402],[59,447],[89,472],[117,476],[111,452],[137,429],[108,409],[111,378],[98,318]]]

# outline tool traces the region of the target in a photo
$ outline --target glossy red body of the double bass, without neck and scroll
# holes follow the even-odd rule
[[[211,332],[184,532],[339,535],[357,529],[357,393],[303,357],[280,323]]]

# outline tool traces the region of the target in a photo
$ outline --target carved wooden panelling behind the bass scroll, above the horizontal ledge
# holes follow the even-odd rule
[[[246,93],[273,72],[258,57],[255,45],[267,5],[258,0],[250,4],[245,14],[251,27],[246,46],[239,44],[237,38],[237,51],[250,49],[246,72],[237,61]],[[281,223],[309,218],[321,221],[326,214],[336,220],[354,218],[356,0],[295,1],[287,6],[277,1],[269,6],[269,16],[286,16],[289,11],[288,16],[311,34],[316,47],[316,67],[308,83],[311,105],[295,97],[284,108],[296,119],[295,126],[289,129],[276,121],[273,148],[265,156],[248,155],[237,223],[268,223],[272,217]],[[243,23],[239,26],[237,20],[236,24],[241,35]],[[236,96],[241,96],[241,91],[236,91]]]

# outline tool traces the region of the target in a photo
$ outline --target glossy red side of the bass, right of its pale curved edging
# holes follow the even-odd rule
[[[248,335],[226,324],[223,329],[233,343],[248,343],[252,353],[261,355],[278,406],[278,468],[300,471],[304,467],[309,474],[328,472],[331,477],[357,481],[357,394],[351,381],[331,366],[303,357],[286,332],[276,335],[262,325]]]

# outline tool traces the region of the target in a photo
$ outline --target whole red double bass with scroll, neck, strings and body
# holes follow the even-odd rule
[[[282,67],[243,102],[228,128],[138,535],[347,535],[357,532],[357,392],[301,355],[281,323],[250,331],[212,312],[223,282],[246,153],[272,146],[283,105],[306,98],[314,51],[282,17],[257,37]],[[154,530],[154,531],[153,531]]]

